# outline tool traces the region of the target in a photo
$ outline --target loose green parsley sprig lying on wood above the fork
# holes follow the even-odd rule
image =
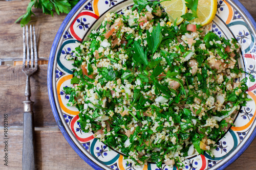
[[[15,22],[18,22],[21,19],[20,25],[26,25],[30,21],[31,15],[35,15],[32,12],[33,6],[42,9],[42,13],[53,16],[54,13],[57,13],[58,15],[60,13],[68,14],[78,2],[79,0],[31,0],[27,7],[27,12],[20,16]]]

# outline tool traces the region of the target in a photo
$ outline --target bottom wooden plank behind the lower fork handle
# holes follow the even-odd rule
[[[3,130],[0,130],[4,134]],[[0,169],[22,169],[22,130],[9,130],[8,167],[3,162],[4,143],[0,142]],[[35,131],[37,169],[88,169],[93,168],[84,162],[70,147],[60,131]]]

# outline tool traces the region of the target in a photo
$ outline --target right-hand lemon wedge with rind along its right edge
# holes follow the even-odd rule
[[[207,25],[212,20],[217,12],[217,0],[198,0],[197,16],[198,18],[189,21],[193,24]]]

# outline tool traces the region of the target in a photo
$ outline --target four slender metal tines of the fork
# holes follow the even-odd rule
[[[30,36],[28,34],[28,30],[29,30],[28,26],[26,26],[26,35],[25,35],[25,27],[23,27],[23,68],[29,68],[29,67],[37,68],[35,26],[33,25],[33,35],[32,35],[31,25],[30,25]],[[30,37],[30,43],[29,43],[29,37]],[[34,43],[34,47],[33,47],[33,43]]]

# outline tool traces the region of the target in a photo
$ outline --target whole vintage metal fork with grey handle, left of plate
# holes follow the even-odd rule
[[[26,40],[25,40],[26,37]],[[34,47],[33,47],[34,44]],[[35,169],[35,150],[34,150],[34,113],[33,103],[30,100],[30,76],[37,70],[37,51],[36,51],[36,38],[35,38],[35,26],[30,25],[30,44],[28,26],[23,27],[23,72],[27,76],[25,96],[26,101],[24,104],[23,114],[23,153],[22,153],[22,168],[23,170]]]

